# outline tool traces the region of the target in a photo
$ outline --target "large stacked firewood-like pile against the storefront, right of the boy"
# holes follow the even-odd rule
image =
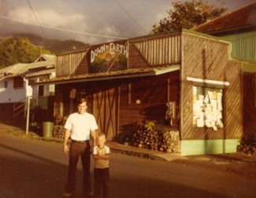
[[[124,144],[162,152],[180,152],[179,131],[163,130],[152,121],[139,122]]]

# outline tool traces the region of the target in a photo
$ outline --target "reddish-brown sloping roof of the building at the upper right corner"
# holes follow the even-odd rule
[[[256,2],[198,25],[197,27],[193,27],[191,30],[206,33],[212,31],[228,31],[241,27],[256,27]]]

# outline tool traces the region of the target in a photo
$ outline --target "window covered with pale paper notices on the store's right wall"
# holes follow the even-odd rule
[[[193,86],[193,127],[223,127],[223,90]]]

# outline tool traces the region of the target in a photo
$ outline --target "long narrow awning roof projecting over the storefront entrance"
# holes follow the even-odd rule
[[[134,68],[115,72],[104,72],[87,75],[60,76],[54,79],[43,79],[38,83],[34,83],[34,85],[82,83],[109,79],[131,79],[144,76],[162,75],[177,70],[180,70],[180,64],[156,68]]]

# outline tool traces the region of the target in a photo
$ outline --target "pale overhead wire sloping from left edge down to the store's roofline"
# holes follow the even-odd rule
[[[22,20],[13,19],[13,18],[8,17],[8,16],[1,16],[1,15],[0,15],[0,18],[6,19],[6,20],[13,20],[13,21],[15,21],[15,22],[17,22],[17,23],[39,26],[39,24],[33,24],[33,23],[30,23],[30,22],[27,22],[27,21],[22,21]],[[43,25],[43,24],[41,24],[41,27],[46,27],[46,28],[53,29],[53,30],[58,30],[58,31],[72,32],[72,33],[76,33],[76,34],[80,34],[80,35],[91,35],[91,36],[97,36],[97,37],[102,37],[102,38],[127,39],[127,37],[124,38],[124,37],[109,36],[109,35],[97,35],[97,34],[87,33],[87,32],[83,32],[83,31],[72,31],[72,30],[67,30],[67,29],[64,29],[64,28],[50,27],[50,26]]]

